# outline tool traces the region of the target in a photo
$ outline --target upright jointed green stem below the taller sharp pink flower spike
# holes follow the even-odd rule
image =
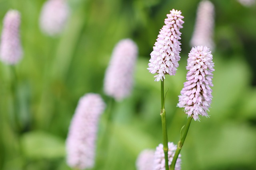
[[[164,108],[164,79],[161,81],[161,120],[162,120],[162,132],[163,132],[163,150],[164,150],[164,159],[165,159],[165,169],[169,170],[168,165],[168,136],[167,136],[167,127],[166,127],[166,111]]]

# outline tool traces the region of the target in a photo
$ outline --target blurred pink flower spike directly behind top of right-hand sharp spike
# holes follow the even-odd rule
[[[190,44],[194,46],[205,45],[210,49],[214,49],[212,40],[214,32],[214,5],[208,0],[199,3],[196,24]]]

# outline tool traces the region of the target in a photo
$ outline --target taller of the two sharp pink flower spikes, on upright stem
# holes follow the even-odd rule
[[[164,74],[175,75],[180,61],[180,28],[184,18],[178,10],[170,11],[164,20],[164,25],[160,29],[153,51],[151,52],[148,63],[150,73],[157,73],[155,81],[163,80]]]

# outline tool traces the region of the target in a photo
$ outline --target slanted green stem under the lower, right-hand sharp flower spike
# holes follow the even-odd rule
[[[176,161],[177,161],[178,156],[179,156],[179,154],[180,154],[180,150],[182,149],[182,146],[184,145],[184,141],[185,141],[186,136],[187,136],[187,134],[188,134],[188,129],[189,129],[189,127],[190,127],[190,123],[191,123],[191,120],[192,120],[192,119],[193,119],[193,115],[191,115],[191,116],[188,118],[188,122],[187,122],[186,126],[184,127],[184,134],[183,134],[183,136],[181,135],[181,139],[180,139],[180,141],[178,142],[178,147],[177,147],[177,149],[176,149],[176,151],[175,151],[175,154],[174,154],[174,157],[173,157],[173,159],[172,159],[172,164],[171,164],[171,166],[170,166],[170,170],[174,170],[174,168],[175,168]],[[183,128],[183,127],[182,127],[182,128]],[[181,133],[181,132],[180,132],[180,133]]]

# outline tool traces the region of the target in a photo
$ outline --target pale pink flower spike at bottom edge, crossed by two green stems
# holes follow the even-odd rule
[[[168,142],[168,165],[170,167],[172,163],[173,156],[175,154],[175,151],[177,149],[177,145],[174,145],[174,143]],[[175,170],[181,169],[181,155],[179,154],[178,159],[175,164]],[[164,150],[163,150],[163,144],[159,144],[158,147],[156,147],[156,151],[154,154],[154,168],[153,170],[165,170],[165,160],[164,160]]]

